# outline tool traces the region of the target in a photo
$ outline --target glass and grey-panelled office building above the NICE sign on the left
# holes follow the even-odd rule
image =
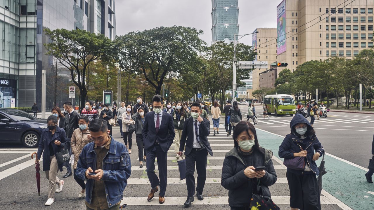
[[[0,1],[0,107],[41,107],[42,70],[46,70],[46,109],[62,106],[72,85],[70,71],[46,55],[43,29],[65,28],[116,35],[114,0]],[[56,67],[57,66],[57,67]],[[57,87],[57,88],[56,88]],[[57,92],[57,95],[55,94]]]

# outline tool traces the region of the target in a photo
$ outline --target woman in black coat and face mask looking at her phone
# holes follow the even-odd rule
[[[272,162],[273,152],[261,148],[256,130],[248,121],[241,121],[233,133],[234,148],[225,155],[221,185],[229,190],[229,206],[232,210],[249,209],[252,193],[257,185],[264,197],[270,197],[269,186],[277,180]],[[256,171],[256,167],[265,170]]]

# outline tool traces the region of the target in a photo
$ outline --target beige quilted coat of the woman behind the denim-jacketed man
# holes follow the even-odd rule
[[[86,132],[82,133],[79,128],[75,129],[73,135],[71,136],[70,145],[71,152],[74,154],[74,169],[77,169],[77,164],[79,160],[79,155],[82,152],[83,147],[91,142],[89,138],[90,132],[87,129]]]

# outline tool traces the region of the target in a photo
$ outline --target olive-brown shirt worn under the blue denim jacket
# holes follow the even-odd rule
[[[95,144],[96,170],[102,169],[102,160],[104,160],[105,156],[109,151],[111,140],[112,139],[109,138],[109,141],[104,145],[103,148]],[[94,210],[104,210],[110,208],[108,207],[107,195],[105,194],[105,186],[104,181],[102,179],[95,180],[93,182],[91,204],[87,203],[87,201],[85,201],[85,203],[87,207]],[[117,203],[116,205],[118,205],[119,203]]]

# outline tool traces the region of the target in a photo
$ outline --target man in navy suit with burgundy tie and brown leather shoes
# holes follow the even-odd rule
[[[162,98],[160,95],[153,96],[153,111],[145,115],[142,130],[144,148],[147,154],[147,176],[151,183],[151,192],[148,201],[154,197],[154,193],[160,186],[159,203],[165,202],[166,183],[168,178],[167,157],[168,150],[175,136],[174,123],[171,114],[162,111]],[[154,160],[157,157],[160,179],[154,174]]]

